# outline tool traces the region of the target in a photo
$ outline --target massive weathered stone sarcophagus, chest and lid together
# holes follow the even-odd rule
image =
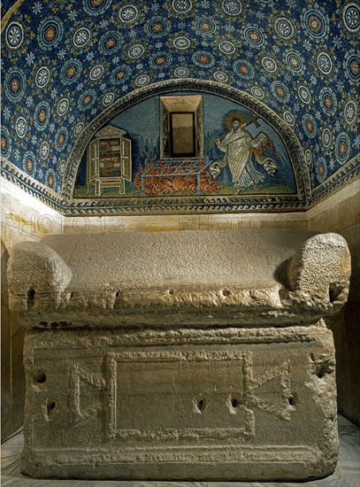
[[[336,234],[175,231],[19,243],[23,473],[304,480],[338,454]]]

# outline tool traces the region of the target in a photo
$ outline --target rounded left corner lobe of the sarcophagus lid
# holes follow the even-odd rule
[[[10,308],[57,308],[71,278],[72,271],[56,251],[39,242],[19,242],[8,262]]]

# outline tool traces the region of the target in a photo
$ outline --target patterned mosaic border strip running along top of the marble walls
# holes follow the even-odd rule
[[[167,214],[167,213],[290,213],[304,212],[310,210],[327,197],[332,196],[340,189],[345,188],[350,183],[360,179],[360,155],[356,156],[342,166],[337,173],[333,174],[328,182],[324,182],[320,187],[314,190],[311,198],[307,202],[299,203],[296,196],[287,195],[287,197],[218,197],[217,201],[209,201],[209,198],[197,198],[199,201],[189,206],[188,201],[179,201],[179,198],[169,198],[169,202],[161,198],[137,198],[132,205],[122,205],[119,209],[119,202],[108,202],[106,207],[99,206],[95,201],[83,208],[81,205],[65,205],[65,202],[57,193],[47,188],[40,182],[36,182],[27,174],[19,170],[18,167],[11,164],[4,158],[1,158],[1,175],[7,181],[18,186],[32,197],[35,197],[45,205],[50,206],[58,213],[65,216],[97,216],[97,215],[135,215],[138,214],[134,205],[141,199],[142,214]],[[174,202],[177,199],[177,202]],[[185,198],[184,198],[185,199]],[[202,201],[200,201],[202,199]],[[265,199],[265,201],[264,201]],[[155,202],[153,200],[156,200]],[[144,205],[146,204],[146,205]],[[169,212],[169,206],[172,205],[172,212]]]

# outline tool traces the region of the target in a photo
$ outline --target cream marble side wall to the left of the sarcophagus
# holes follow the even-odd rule
[[[1,205],[1,421],[2,439],[23,422],[24,369],[22,347],[24,329],[8,303],[6,268],[9,254],[19,242],[38,242],[51,232],[62,233],[65,219],[59,213],[10,182],[0,178]]]

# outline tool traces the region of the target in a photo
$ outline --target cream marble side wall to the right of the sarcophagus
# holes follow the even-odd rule
[[[310,230],[337,232],[351,254],[349,301],[329,326],[333,330],[337,367],[339,411],[360,424],[360,180],[349,184],[307,212]]]

